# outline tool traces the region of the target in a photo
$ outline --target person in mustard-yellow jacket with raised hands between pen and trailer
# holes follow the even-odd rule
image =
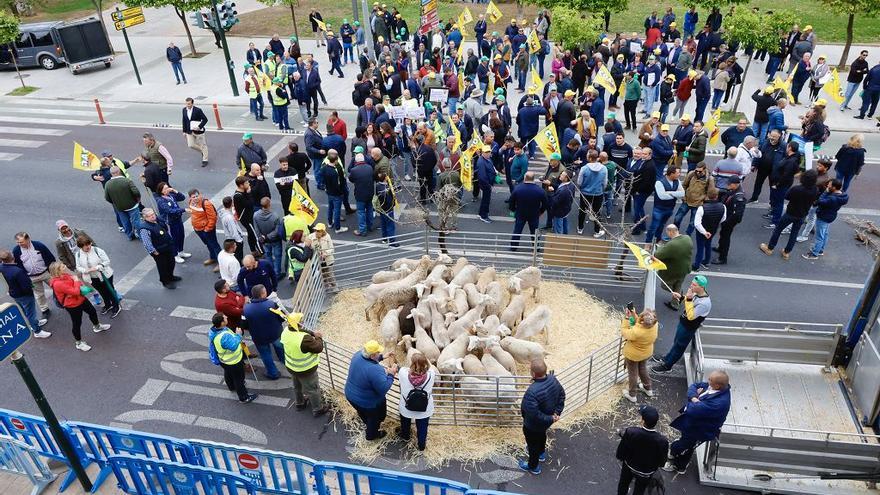
[[[638,400],[636,394],[639,390],[648,397],[654,397],[647,362],[654,354],[657,326],[657,313],[652,309],[646,309],[641,314],[636,314],[635,310],[627,308],[626,316],[620,323],[620,334],[625,341],[623,343],[623,357],[629,375],[629,387],[623,391],[623,397],[630,402]]]

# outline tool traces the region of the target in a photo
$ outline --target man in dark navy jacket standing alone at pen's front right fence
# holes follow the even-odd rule
[[[547,459],[547,430],[559,421],[565,408],[565,390],[555,376],[547,374],[547,363],[543,359],[532,361],[531,373],[532,384],[520,406],[529,460],[519,461],[519,468],[538,475],[541,474],[538,463]]]

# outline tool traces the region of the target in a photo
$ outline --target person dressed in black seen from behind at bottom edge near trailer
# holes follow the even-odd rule
[[[630,426],[620,432],[616,453],[621,462],[617,495],[627,495],[633,481],[633,495],[644,494],[654,473],[666,463],[669,441],[655,429],[660,413],[646,404],[639,407],[639,415],[640,426]]]

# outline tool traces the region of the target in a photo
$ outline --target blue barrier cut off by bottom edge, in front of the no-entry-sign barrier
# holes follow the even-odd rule
[[[106,460],[119,489],[131,495],[256,494],[249,479],[217,469],[125,454]]]

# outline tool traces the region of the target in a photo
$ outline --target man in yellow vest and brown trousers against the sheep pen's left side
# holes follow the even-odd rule
[[[321,332],[311,332],[302,327],[302,313],[287,316],[287,330],[281,333],[284,346],[284,365],[293,378],[296,409],[304,410],[312,404],[312,416],[322,416],[330,410],[324,404],[321,384],[318,381],[318,365],[324,351]]]

